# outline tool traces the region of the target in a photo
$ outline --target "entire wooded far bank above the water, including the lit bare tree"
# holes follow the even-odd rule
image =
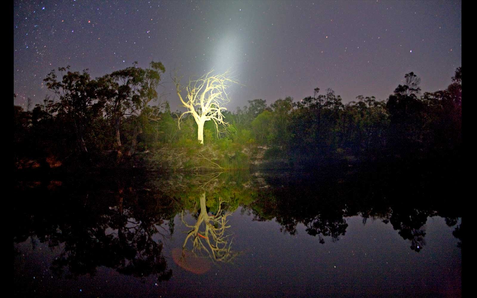
[[[44,82],[51,97],[27,110],[13,107],[14,170],[307,168],[340,162],[455,161],[461,155],[461,67],[447,89],[436,92],[421,93],[420,78],[410,72],[385,100],[359,95],[342,103],[332,89],[315,88],[300,100],[286,97],[267,104],[253,99],[233,112],[210,101],[209,110],[203,104],[194,110],[186,98],[197,96],[197,88],[190,82],[183,87],[178,80],[179,98],[173,100],[182,101],[187,111],[171,111],[164,94],[157,92],[165,72],[154,61],[146,69],[135,63],[96,79],[88,70],[73,72],[70,67],[50,72]],[[194,82],[210,78],[206,74]],[[214,90],[204,92],[206,101],[207,96],[227,96],[224,82],[233,81],[225,74],[219,78],[214,87],[218,97]],[[213,121],[203,122],[200,131],[191,109]]]

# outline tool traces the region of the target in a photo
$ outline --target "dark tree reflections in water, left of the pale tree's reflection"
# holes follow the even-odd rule
[[[14,241],[37,237],[49,247],[62,247],[51,264],[58,276],[65,269],[66,277],[94,276],[98,267],[105,266],[125,275],[168,280],[172,271],[161,241],[168,231],[161,226],[174,218],[171,210],[143,188],[133,189],[130,181],[101,182],[104,185],[76,181],[74,187],[66,183],[55,191],[23,189],[25,200],[15,208],[22,225]],[[93,189],[86,186],[90,183]],[[30,196],[46,199],[28,200]],[[27,200],[30,204],[24,204]]]

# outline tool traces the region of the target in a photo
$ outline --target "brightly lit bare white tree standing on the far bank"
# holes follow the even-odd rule
[[[214,70],[207,72],[197,80],[189,79],[187,86],[180,84],[181,77],[175,77],[176,92],[187,112],[182,113],[178,119],[180,121],[186,114],[192,114],[197,123],[197,140],[200,144],[204,144],[204,123],[206,121],[214,121],[216,127],[219,124],[227,125],[224,121],[222,111],[227,110],[224,105],[230,100],[226,89],[232,83],[237,83],[229,77],[229,72],[223,74],[212,75]],[[186,97],[182,97],[182,92],[186,91]]]

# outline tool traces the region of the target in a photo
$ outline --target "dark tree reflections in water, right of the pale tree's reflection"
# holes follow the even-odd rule
[[[424,166],[425,173],[417,170]],[[274,187],[259,193],[247,209],[256,220],[275,218],[282,230],[296,233],[301,223],[312,236],[331,236],[333,241],[346,232],[345,218],[362,216],[391,223],[394,230],[409,240],[411,249],[420,251],[425,245],[425,223],[429,216],[446,218],[448,226],[461,246],[458,177],[443,174],[444,164],[386,164],[344,166],[340,170],[321,169],[317,173],[285,173],[268,175],[266,182]]]

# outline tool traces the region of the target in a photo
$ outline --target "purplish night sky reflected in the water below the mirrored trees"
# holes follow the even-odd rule
[[[145,279],[120,275],[100,267],[93,277],[59,280],[49,273],[49,266],[60,252],[47,244],[31,242],[15,245],[20,255],[15,258],[15,288],[36,289],[39,295],[63,289],[63,295],[100,295],[116,297],[185,297],[201,296],[327,296],[341,293],[344,297],[377,294],[395,297],[435,297],[436,293],[460,296],[461,250],[442,217],[427,219],[425,248],[416,253],[408,240],[398,235],[391,224],[361,216],[346,218],[348,227],[340,240],[306,233],[297,226],[295,236],[280,232],[274,220],[258,222],[252,216],[240,215],[239,208],[229,218],[233,233],[232,249],[242,251],[234,264],[218,264],[204,275],[194,275],[177,267],[170,256],[174,247],[181,247],[184,231],[176,216],[175,233],[165,239],[163,254],[173,277],[159,283],[154,277]],[[187,216],[190,222],[191,216]],[[167,227],[166,227],[167,229]],[[158,239],[157,239],[158,240]],[[33,278],[35,277],[35,278]],[[333,295],[332,295],[333,296]]]

